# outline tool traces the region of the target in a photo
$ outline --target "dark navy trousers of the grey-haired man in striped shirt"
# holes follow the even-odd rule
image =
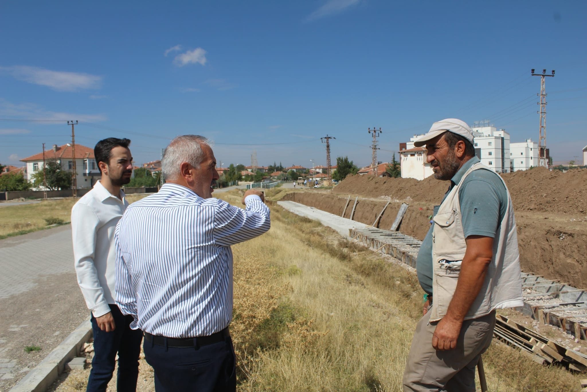
[[[197,340],[197,339],[196,339]],[[236,359],[232,340],[176,348],[144,341],[145,359],[155,370],[156,392],[235,391]]]

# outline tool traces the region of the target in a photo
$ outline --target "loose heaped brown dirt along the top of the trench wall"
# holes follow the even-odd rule
[[[510,189],[515,210],[584,214],[587,210],[587,169],[562,173],[536,167],[502,175]],[[332,192],[365,197],[389,196],[438,204],[450,182],[433,176],[424,180],[373,176],[346,177]]]

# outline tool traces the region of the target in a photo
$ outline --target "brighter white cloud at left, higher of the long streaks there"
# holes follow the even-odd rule
[[[26,65],[0,67],[0,73],[8,73],[19,81],[47,86],[55,91],[73,92],[83,89],[99,89],[102,86],[102,76],[90,75],[89,73],[51,71]]]

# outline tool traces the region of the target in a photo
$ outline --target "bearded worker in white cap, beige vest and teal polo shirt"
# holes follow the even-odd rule
[[[417,257],[424,316],[403,390],[474,391],[475,366],[491,343],[495,309],[524,304],[512,200],[501,176],[475,156],[465,122],[435,122],[414,142],[423,145],[434,177],[450,180],[450,187],[434,207]]]

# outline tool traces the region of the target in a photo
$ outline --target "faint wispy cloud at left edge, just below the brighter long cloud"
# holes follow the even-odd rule
[[[48,120],[48,121],[67,121],[79,120],[86,122],[106,121],[107,117],[102,114],[80,114],[67,112],[53,112],[41,108],[34,103],[11,103],[4,98],[0,98],[0,115],[8,118],[26,119],[26,120]]]

